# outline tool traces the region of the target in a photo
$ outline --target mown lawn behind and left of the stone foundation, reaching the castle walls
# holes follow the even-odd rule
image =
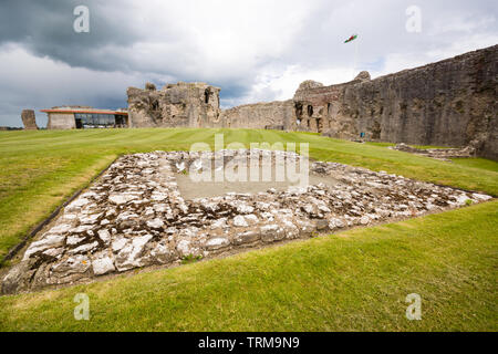
[[[498,195],[498,173],[317,134],[255,129],[0,132],[0,259],[72,192],[123,154],[225,143],[309,143],[310,155],[409,178]],[[496,164],[489,162],[489,164]]]

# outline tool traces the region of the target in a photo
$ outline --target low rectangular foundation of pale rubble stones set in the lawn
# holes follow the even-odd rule
[[[243,154],[298,156],[264,150]],[[317,162],[310,164],[311,173],[330,177],[333,187],[319,184],[184,200],[175,174],[198,157],[186,152],[121,157],[28,247],[22,261],[4,277],[2,292],[179,263],[185,258],[212,257],[491,198],[383,171]]]

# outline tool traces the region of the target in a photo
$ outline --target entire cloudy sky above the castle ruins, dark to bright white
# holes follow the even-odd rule
[[[74,31],[77,6],[90,32]],[[44,126],[39,110],[55,105],[126,107],[126,87],[147,81],[208,82],[224,107],[288,100],[308,79],[376,77],[497,44],[497,17],[496,0],[1,0],[0,126],[21,126],[23,108]]]

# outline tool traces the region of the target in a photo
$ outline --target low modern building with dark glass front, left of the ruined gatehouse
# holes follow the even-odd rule
[[[83,129],[128,127],[125,111],[95,110],[83,106],[53,107],[42,110],[49,115],[49,129]]]

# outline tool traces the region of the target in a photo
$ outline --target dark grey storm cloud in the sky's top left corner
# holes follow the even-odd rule
[[[126,70],[118,52],[108,46],[132,45],[138,38],[126,25],[125,7],[110,8],[113,1],[81,0],[4,0],[0,12],[0,45],[21,43],[33,54],[49,56],[72,66],[95,70]],[[118,4],[118,2],[115,2]],[[75,7],[90,9],[91,31],[76,33],[73,22]]]

